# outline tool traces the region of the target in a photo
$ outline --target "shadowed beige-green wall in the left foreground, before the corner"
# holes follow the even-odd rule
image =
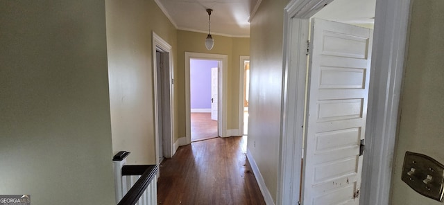
[[[0,194],[115,204],[105,1],[0,1]]]

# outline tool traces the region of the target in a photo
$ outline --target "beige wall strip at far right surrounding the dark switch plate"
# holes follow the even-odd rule
[[[392,175],[391,204],[442,204],[416,193],[401,180],[406,151],[444,163],[444,1],[413,1],[409,51],[402,87],[400,122]]]

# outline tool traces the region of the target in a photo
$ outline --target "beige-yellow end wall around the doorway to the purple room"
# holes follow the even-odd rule
[[[185,132],[185,52],[228,55],[228,124],[227,129],[239,129],[239,60],[241,55],[250,55],[250,39],[212,35],[214,47],[205,48],[207,34],[178,30],[176,74],[176,97],[178,99],[179,137]]]

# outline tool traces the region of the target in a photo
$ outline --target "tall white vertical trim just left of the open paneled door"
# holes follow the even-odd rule
[[[300,201],[300,166],[305,86],[307,75],[308,19],[289,19],[295,10],[284,10],[284,77],[282,84],[282,137],[280,138],[280,165],[277,204],[298,204]],[[298,36],[294,37],[294,36]],[[286,57],[288,55],[288,57]],[[292,60],[293,59],[293,60]],[[305,69],[296,69],[296,68]],[[293,69],[295,68],[295,69]]]

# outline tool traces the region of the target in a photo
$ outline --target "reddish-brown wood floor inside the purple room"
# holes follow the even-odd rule
[[[219,136],[217,121],[211,119],[211,113],[191,113],[191,141],[200,141]]]

